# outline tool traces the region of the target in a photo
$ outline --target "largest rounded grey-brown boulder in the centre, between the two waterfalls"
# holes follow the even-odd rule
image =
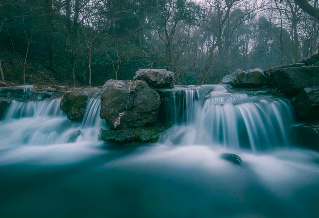
[[[138,128],[153,123],[159,94],[144,81],[108,80],[101,92],[100,117],[111,129]]]

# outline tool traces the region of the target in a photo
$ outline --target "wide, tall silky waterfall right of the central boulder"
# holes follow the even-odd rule
[[[185,91],[188,119],[164,133],[159,142],[212,144],[253,151],[288,145],[293,121],[288,101],[232,93],[223,86],[214,86],[201,99],[199,89]]]

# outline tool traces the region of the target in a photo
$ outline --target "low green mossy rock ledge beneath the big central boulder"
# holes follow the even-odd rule
[[[101,138],[103,141],[116,142],[119,144],[133,142],[156,143],[159,139],[160,131],[162,130],[156,128],[103,130]]]

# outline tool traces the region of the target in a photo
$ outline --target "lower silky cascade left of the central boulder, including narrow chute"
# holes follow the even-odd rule
[[[98,141],[100,129],[107,129],[100,118],[100,96],[88,98],[82,123],[71,122],[60,109],[61,98],[43,101],[12,101],[1,121],[4,144],[50,145]]]

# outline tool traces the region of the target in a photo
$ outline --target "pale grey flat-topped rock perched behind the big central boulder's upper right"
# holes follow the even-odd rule
[[[133,79],[143,80],[153,88],[167,88],[174,86],[174,73],[165,69],[141,69]]]

